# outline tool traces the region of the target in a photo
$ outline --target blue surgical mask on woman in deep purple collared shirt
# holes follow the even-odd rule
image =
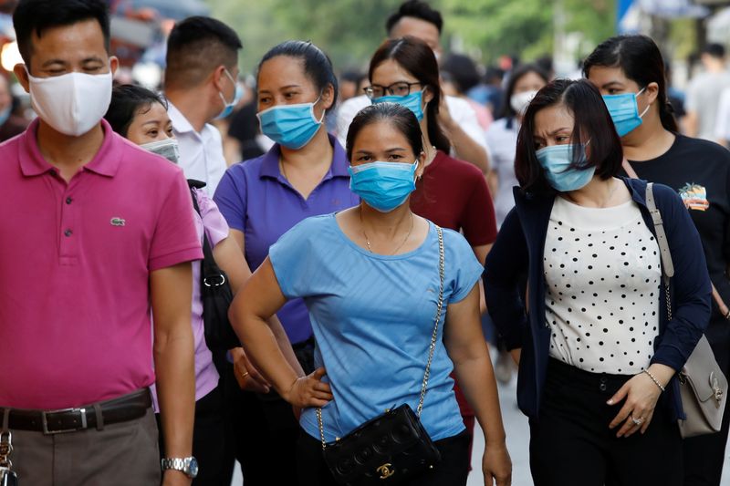
[[[261,111],[256,116],[261,122],[261,131],[271,140],[287,149],[298,150],[309,143],[322,125],[325,113],[317,119],[314,103],[278,105]]]

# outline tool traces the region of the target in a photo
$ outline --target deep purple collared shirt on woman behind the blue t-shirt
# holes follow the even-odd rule
[[[334,137],[332,165],[305,200],[279,171],[281,151],[275,145],[261,157],[244,160],[225,172],[214,201],[228,225],[245,235],[245,259],[254,271],[266,260],[269,247],[297,222],[309,216],[338,212],[360,202],[349,190],[348,160]],[[277,314],[292,343],[312,335],[304,301],[287,302]]]

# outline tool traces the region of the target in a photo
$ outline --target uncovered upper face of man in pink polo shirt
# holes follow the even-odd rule
[[[26,67],[36,78],[51,78],[71,72],[98,75],[110,70],[113,73],[117,68],[117,59],[109,56],[101,26],[95,19],[51,27],[42,36],[34,33],[31,44],[30,62]],[[16,75],[27,91],[25,69],[18,66]]]

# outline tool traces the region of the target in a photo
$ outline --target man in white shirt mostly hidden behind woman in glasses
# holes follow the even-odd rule
[[[441,57],[441,14],[420,0],[409,0],[388,18],[388,38],[397,39],[413,36],[421,39],[433,49],[436,59]],[[349,124],[358,111],[370,105],[365,95],[349,98],[337,111],[337,136],[342,145],[348,134]],[[473,163],[483,172],[489,171],[489,157],[486,149],[485,132],[479,126],[474,109],[469,103],[451,96],[442,97],[439,107],[439,125],[451,140],[454,156]]]

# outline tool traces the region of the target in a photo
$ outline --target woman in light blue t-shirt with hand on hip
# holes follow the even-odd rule
[[[350,185],[363,202],[284,234],[232,306],[256,366],[283,398],[304,408],[297,449],[302,485],[334,484],[322,440],[344,437],[393,405],[417,409],[441,286],[437,228],[408,204],[425,160],[418,120],[400,105],[373,105],[353,120],[347,140]],[[485,482],[508,484],[511,463],[479,324],[482,267],[459,233],[443,230],[443,253],[445,312],[421,415],[442,461],[413,484],[466,484],[470,438],[452,369],[485,430]],[[266,325],[292,298],[304,299],[317,343],[318,368],[308,377],[297,377]]]

